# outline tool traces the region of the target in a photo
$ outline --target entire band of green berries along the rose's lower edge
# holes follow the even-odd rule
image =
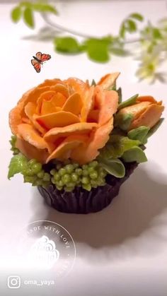
[[[10,143],[13,155],[17,155],[20,151],[16,148],[16,136],[11,136]],[[54,184],[58,190],[64,189],[67,192],[73,191],[75,187],[82,187],[87,191],[91,191],[91,188],[105,185],[107,172],[96,160],[82,166],[70,160],[64,163],[55,160],[52,161],[53,166],[54,168],[50,172],[45,172],[44,167],[38,160],[25,158],[21,170],[24,182],[42,187]]]

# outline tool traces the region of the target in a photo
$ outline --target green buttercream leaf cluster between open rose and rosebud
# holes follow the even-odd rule
[[[128,100],[128,104],[130,102],[131,100]],[[129,114],[125,114],[125,117],[128,115]],[[128,132],[126,129],[122,131],[122,128],[127,128],[126,124],[128,120],[127,118],[127,121],[122,122],[122,125],[120,124],[113,129],[108,143],[106,143],[104,148],[100,149],[100,155],[98,155],[98,162],[103,169],[108,172],[108,174],[113,174],[113,176],[118,178],[125,176],[123,162],[141,163],[147,161],[144,153],[144,145],[148,138],[159,129],[159,126],[161,126],[163,122],[162,118],[151,129],[147,126],[139,126],[137,129],[132,129]]]

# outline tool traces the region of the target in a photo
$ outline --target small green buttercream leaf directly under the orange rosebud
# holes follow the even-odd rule
[[[132,140],[139,140],[141,143],[146,143],[146,136],[149,132],[149,127],[139,126],[137,129],[132,129],[127,133],[127,136]]]

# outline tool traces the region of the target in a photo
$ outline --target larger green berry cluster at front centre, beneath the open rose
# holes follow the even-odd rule
[[[58,190],[73,191],[75,187],[82,187],[87,191],[91,188],[105,185],[106,172],[97,161],[89,162],[88,165],[79,166],[78,163],[67,165],[57,164],[56,169],[50,171],[51,182]]]

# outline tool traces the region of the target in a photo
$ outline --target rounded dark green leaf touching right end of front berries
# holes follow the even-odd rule
[[[125,166],[122,161],[117,158],[110,158],[110,160],[100,159],[100,165],[108,174],[112,174],[117,178],[125,176]]]

